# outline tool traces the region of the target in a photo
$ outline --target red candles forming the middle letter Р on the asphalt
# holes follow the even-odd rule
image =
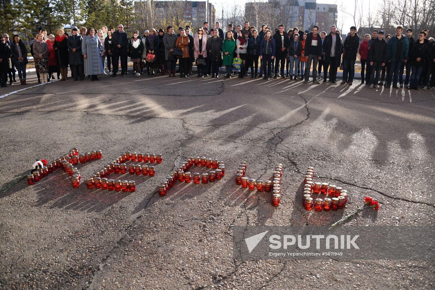
[[[215,170],[212,170],[208,173],[204,172],[202,175],[199,172],[194,172],[192,178],[191,172],[188,171],[192,168],[192,166],[212,168]],[[206,158],[204,156],[188,156],[187,159],[177,167],[177,169],[171,171],[171,173],[161,181],[160,185],[158,186],[158,192],[160,196],[166,196],[167,192],[174,187],[175,182],[177,181],[190,183],[193,180],[193,183],[195,184],[199,184],[200,182],[207,184],[208,182],[220,180],[224,176],[225,164],[223,161]]]

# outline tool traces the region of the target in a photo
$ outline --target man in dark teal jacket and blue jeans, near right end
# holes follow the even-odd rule
[[[388,41],[388,62],[391,64],[390,73],[388,75],[387,84],[385,88],[391,88],[391,81],[393,82],[393,88],[399,88],[397,81],[399,78],[400,67],[402,63],[407,63],[409,53],[409,41],[403,32],[403,27],[396,27],[396,35],[391,37]]]

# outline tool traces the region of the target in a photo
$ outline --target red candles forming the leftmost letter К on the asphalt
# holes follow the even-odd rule
[[[78,149],[72,148],[67,154],[60,156],[60,158],[57,158],[55,161],[47,162],[47,165],[44,165],[42,168],[33,171],[32,174],[28,174],[27,183],[29,185],[33,185],[35,182],[39,182],[41,179],[47,177],[50,173],[53,173],[59,168],[64,169],[68,175],[73,177],[73,180],[76,178],[80,179],[80,172],[76,167],[74,167],[74,165],[79,164],[79,156],[80,163],[103,158],[101,150],[86,152],[85,154],[79,155]]]

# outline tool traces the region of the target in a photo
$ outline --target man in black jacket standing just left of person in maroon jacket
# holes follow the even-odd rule
[[[343,55],[343,81],[341,81],[341,84],[348,83],[348,85],[352,85],[355,76],[355,61],[359,48],[359,39],[358,34],[356,34],[356,27],[352,26],[350,34],[343,43],[345,52]]]

